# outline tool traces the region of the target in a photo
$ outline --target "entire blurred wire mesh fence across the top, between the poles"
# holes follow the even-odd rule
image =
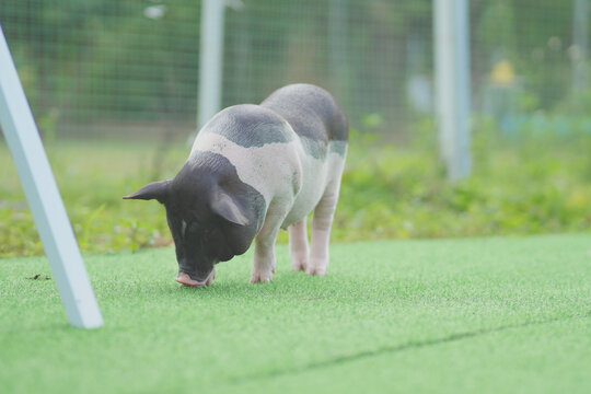
[[[334,92],[357,128],[404,135],[432,115],[431,0],[225,4],[223,106],[306,81]],[[473,111],[506,132],[518,114],[584,114],[590,32],[581,4],[470,1]],[[195,129],[200,1],[2,1],[0,23],[43,132]]]

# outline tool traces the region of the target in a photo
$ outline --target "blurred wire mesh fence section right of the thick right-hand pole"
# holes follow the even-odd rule
[[[547,115],[583,117],[584,129],[591,132],[588,1],[471,5],[473,111],[493,116],[506,135],[519,132],[525,124],[560,132],[560,126],[535,121]],[[581,11],[583,20],[578,21]]]

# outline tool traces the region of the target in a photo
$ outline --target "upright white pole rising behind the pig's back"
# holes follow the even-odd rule
[[[200,129],[221,107],[223,55],[223,0],[204,0],[199,54],[199,104],[197,127]]]

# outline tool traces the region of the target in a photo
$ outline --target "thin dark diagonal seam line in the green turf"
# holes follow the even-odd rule
[[[335,358],[327,359],[327,360],[324,360],[324,361],[312,362],[312,363],[309,363],[309,364],[305,364],[305,366],[302,366],[302,367],[298,367],[298,368],[292,368],[292,369],[283,369],[283,370],[276,369],[276,370],[271,370],[271,371],[266,372],[266,373],[257,373],[257,374],[251,374],[251,375],[244,375],[244,376],[230,378],[228,380],[228,382],[230,384],[240,384],[240,383],[245,383],[245,382],[250,382],[250,381],[256,381],[256,380],[260,380],[260,379],[279,378],[279,376],[285,376],[285,375],[289,375],[289,374],[302,373],[302,372],[306,372],[306,371],[311,371],[311,370],[316,370],[316,369],[320,369],[320,368],[329,368],[329,367],[333,367],[333,366],[338,366],[338,364],[346,363],[346,362],[357,361],[357,360],[364,359],[364,358],[371,358],[371,357],[382,356],[382,355],[386,355],[386,354],[395,354],[395,352],[405,351],[405,350],[409,350],[409,349],[420,349],[420,348],[425,348],[425,347],[429,347],[429,346],[437,346],[437,345],[442,345],[442,344],[447,344],[447,343],[453,343],[453,341],[457,341],[457,340],[462,340],[462,339],[474,338],[474,337],[477,337],[477,336],[499,333],[499,332],[503,332],[503,331],[507,331],[507,329],[524,328],[524,327],[530,327],[530,326],[552,324],[552,323],[556,323],[556,322],[566,322],[566,321],[575,320],[575,318],[586,318],[586,317],[590,317],[590,316],[591,316],[591,311],[589,311],[587,313],[576,314],[576,315],[572,315],[572,316],[567,316],[567,317],[553,317],[553,318],[547,318],[547,320],[537,321],[537,322],[503,325],[503,326],[499,326],[499,327],[496,327],[496,328],[477,329],[477,331],[465,332],[465,333],[455,333],[455,334],[451,334],[451,335],[448,335],[447,337],[439,338],[439,339],[422,340],[422,341],[409,341],[407,344],[398,345],[398,346],[386,346],[386,347],[378,348],[375,350],[364,350],[364,351],[360,351],[360,352],[357,352],[357,354],[354,354],[354,355],[339,356],[339,357],[335,357]]]

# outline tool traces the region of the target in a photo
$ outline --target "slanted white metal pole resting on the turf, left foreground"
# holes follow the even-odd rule
[[[1,26],[0,125],[68,320],[76,327],[100,327],[103,317]]]

